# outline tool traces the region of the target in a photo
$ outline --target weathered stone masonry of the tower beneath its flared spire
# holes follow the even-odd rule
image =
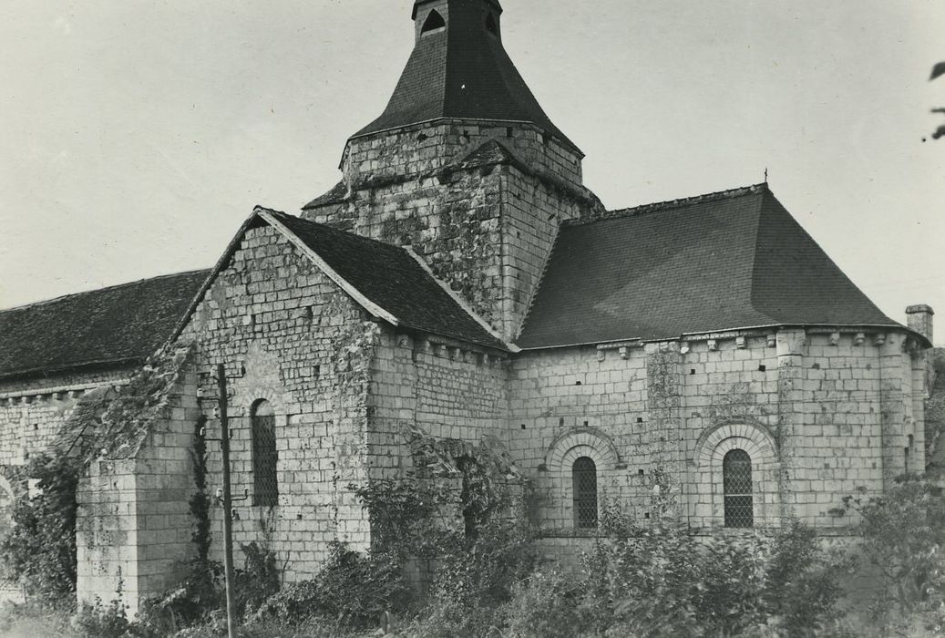
[[[528,164],[441,171],[487,140]],[[357,138],[344,163],[351,197],[305,216],[411,246],[437,276],[507,338],[516,336],[562,219],[589,196],[580,160],[538,129],[453,122]]]

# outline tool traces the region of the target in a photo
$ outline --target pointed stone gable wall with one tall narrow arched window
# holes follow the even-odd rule
[[[232,491],[239,543],[273,549],[291,581],[314,576],[328,542],[368,543],[360,504],[347,486],[363,481],[369,361],[377,326],[307,258],[269,227],[250,229],[200,302],[184,337],[199,344],[200,408],[210,438],[217,363],[226,366],[232,429]],[[278,506],[253,505],[250,411],[266,400],[276,419]],[[221,485],[218,444],[208,443],[208,481]],[[214,509],[213,550],[222,519]]]

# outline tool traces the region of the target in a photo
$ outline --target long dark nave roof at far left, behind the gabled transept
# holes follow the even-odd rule
[[[0,379],[134,365],[174,330],[209,270],[0,311]]]

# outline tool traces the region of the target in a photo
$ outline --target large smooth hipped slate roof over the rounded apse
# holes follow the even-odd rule
[[[902,327],[759,184],[565,224],[516,344],[812,324]]]

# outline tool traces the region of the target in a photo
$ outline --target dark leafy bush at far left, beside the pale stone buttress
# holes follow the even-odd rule
[[[12,526],[0,540],[4,577],[48,605],[71,603],[76,591],[78,472],[75,458],[34,457],[24,475],[36,479],[37,493],[16,496]]]

